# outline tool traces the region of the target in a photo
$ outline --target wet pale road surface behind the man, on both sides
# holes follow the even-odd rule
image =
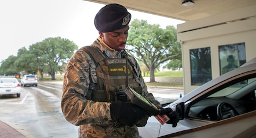
[[[77,137],[78,127],[61,111],[62,82],[40,81],[37,87],[22,87],[21,96],[0,96],[0,120],[26,137]],[[183,90],[150,88],[157,100],[178,98]]]

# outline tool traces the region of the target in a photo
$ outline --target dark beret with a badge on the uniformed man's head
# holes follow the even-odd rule
[[[130,20],[131,14],[124,6],[109,4],[96,14],[94,25],[99,32],[112,32],[127,27]]]

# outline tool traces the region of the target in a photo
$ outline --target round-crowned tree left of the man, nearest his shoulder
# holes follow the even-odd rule
[[[62,70],[62,65],[68,62],[77,49],[78,46],[74,42],[56,37],[46,38],[31,51],[37,53],[36,59],[43,63],[43,70],[50,74],[52,80],[55,80],[56,71]]]

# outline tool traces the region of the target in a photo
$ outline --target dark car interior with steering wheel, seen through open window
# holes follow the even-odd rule
[[[255,73],[232,81],[193,101],[187,116],[194,119],[219,121],[256,110]],[[207,95],[208,94],[208,95]]]

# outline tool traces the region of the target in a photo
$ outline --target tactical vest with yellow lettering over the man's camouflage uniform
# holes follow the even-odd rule
[[[137,70],[128,58],[105,58],[96,47],[83,47],[96,64],[97,90],[89,90],[87,100],[93,101],[129,101],[124,90],[128,86],[142,94],[142,88],[137,79]],[[128,68],[127,68],[128,65]],[[127,70],[128,69],[128,70]],[[128,72],[127,72],[128,71]]]

